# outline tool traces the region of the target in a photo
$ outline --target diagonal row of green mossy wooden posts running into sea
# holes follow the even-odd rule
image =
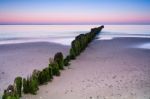
[[[71,43],[70,53],[65,58],[61,52],[58,52],[43,70],[34,70],[27,78],[16,77],[14,84],[4,90],[2,99],[19,99],[22,93],[36,94],[40,85],[52,81],[53,76],[60,76],[60,70],[63,70],[64,66],[69,66],[70,61],[79,56],[103,28],[104,26],[93,28],[89,33],[76,36]]]

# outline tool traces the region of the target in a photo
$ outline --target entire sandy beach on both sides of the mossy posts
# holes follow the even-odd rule
[[[40,86],[37,95],[22,99],[150,99],[150,50],[136,48],[149,42],[146,38],[94,40],[60,77]],[[16,76],[46,67],[58,51],[66,55],[69,47],[46,42],[1,45],[1,92]]]

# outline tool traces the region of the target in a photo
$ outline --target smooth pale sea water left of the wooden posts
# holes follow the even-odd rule
[[[44,41],[70,45],[91,27],[96,25],[0,25],[0,44]]]

